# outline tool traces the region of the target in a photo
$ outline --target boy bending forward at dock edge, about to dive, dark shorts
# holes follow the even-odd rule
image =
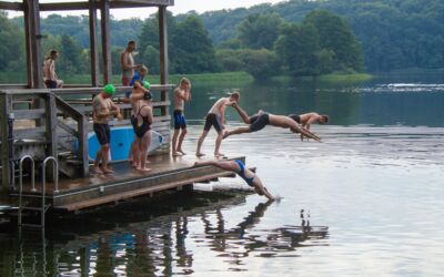
[[[211,126],[214,126],[215,131],[218,132],[218,138],[215,140],[215,148],[214,148],[214,156],[224,156],[219,148],[221,147],[221,142],[224,133],[224,123],[225,123],[225,109],[228,105],[233,106],[238,103],[240,94],[238,91],[231,93],[229,98],[221,98],[218,100],[214,105],[210,109],[209,113],[206,114],[205,125],[203,126],[203,132],[198,141],[198,148],[195,151],[195,155],[203,156],[205,154],[201,153],[201,146],[203,140],[205,140],[206,134],[210,132]]]

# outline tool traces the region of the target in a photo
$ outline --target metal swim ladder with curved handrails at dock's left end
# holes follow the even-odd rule
[[[23,162],[26,160],[31,161],[31,185],[32,192],[36,192],[36,176],[34,176],[34,160],[30,155],[24,155],[20,158],[19,162],[19,218],[18,224],[19,226],[28,226],[28,227],[41,227],[44,228],[44,213],[48,211],[50,205],[46,205],[46,191],[47,191],[47,164],[48,162],[52,161],[54,164],[54,193],[59,192],[59,163],[56,157],[49,156],[44,158],[43,166],[42,166],[42,189],[41,189],[41,205],[39,207],[30,207],[23,206]],[[38,196],[27,196],[27,197],[38,197]],[[36,211],[40,212],[40,224],[24,224],[22,223],[22,212],[23,211]]]

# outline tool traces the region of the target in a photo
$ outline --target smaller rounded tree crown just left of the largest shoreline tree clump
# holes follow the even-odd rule
[[[238,25],[238,38],[244,48],[272,49],[283,23],[278,13],[254,13]]]

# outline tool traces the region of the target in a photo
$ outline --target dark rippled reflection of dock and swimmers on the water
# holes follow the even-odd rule
[[[305,240],[327,236],[326,227],[306,224],[258,229],[273,202],[259,203],[235,227],[230,228],[225,226],[224,211],[244,204],[246,195],[226,194],[230,193],[221,193],[219,199],[213,196],[206,205],[184,205],[175,214],[150,216],[149,220],[128,222],[128,225],[97,232],[90,229],[110,226],[112,219],[94,216],[97,224],[89,223],[83,230],[79,228],[82,222],[75,218],[69,219],[72,228],[20,229],[18,234],[11,229],[0,237],[3,249],[1,276],[189,275],[195,271],[196,252],[215,253],[230,265],[230,270],[245,270],[242,269],[243,259],[249,256],[273,257],[280,252],[294,253],[297,247],[310,245],[304,244]],[[143,206],[145,211],[152,205],[133,204]],[[147,216],[142,211],[125,213],[132,218]],[[200,224],[203,232],[190,235],[190,222]],[[122,233],[124,229],[127,232]]]

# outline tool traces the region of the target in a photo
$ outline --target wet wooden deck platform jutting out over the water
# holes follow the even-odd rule
[[[245,157],[228,160],[232,158],[245,161]],[[54,193],[53,183],[48,183],[47,203],[54,209],[78,211],[171,188],[191,188],[193,183],[234,176],[232,172],[214,166],[193,167],[196,161],[194,155],[157,155],[149,157],[149,161],[152,171],[148,173],[134,171],[128,162],[122,162],[111,165],[114,174],[90,174],[84,178],[61,179],[58,193]],[[36,186],[37,192],[31,192],[31,185],[26,184],[24,195],[38,198],[41,194],[40,182]],[[18,195],[12,193],[11,196]]]

